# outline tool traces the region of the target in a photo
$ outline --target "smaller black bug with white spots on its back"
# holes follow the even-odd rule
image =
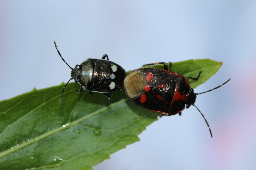
[[[55,48],[60,55],[60,51],[57,48],[57,45],[54,41]],[[66,63],[66,61],[61,59]],[[107,60],[105,60],[107,58]],[[68,63],[66,63],[68,65]],[[92,59],[88,58],[80,65],[76,64],[76,67],[71,69],[71,78],[75,82],[78,82],[81,87],[78,90],[78,93],[84,90],[89,91],[90,96],[92,92],[103,93],[108,99],[110,99],[110,92],[117,92],[123,89],[123,82],[126,76],[125,70],[118,64],[108,60],[108,55],[104,54],[102,59]],[[62,94],[68,83],[64,86],[60,94],[60,103]]]

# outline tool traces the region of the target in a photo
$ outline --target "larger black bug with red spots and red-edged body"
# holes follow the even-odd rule
[[[141,68],[132,71],[126,76],[124,79],[124,90],[127,96],[141,107],[167,115],[176,115],[178,113],[181,115],[181,111],[185,109],[185,105],[186,108],[189,108],[191,105],[196,107],[194,104],[196,102],[196,95],[205,92],[194,93],[194,90],[188,83],[188,79],[197,80],[201,74],[201,71],[196,78],[185,78],[180,74],[168,71],[167,64],[164,62],[153,64],[164,64],[164,70],[155,68]],[[171,70],[171,65],[169,70]],[[228,79],[222,85],[226,84],[229,80],[230,79]],[[219,85],[206,92],[217,89],[222,85]],[[202,112],[197,107],[196,109],[204,118]],[[209,124],[205,118],[204,120],[209,127]],[[210,127],[209,131],[212,137]]]

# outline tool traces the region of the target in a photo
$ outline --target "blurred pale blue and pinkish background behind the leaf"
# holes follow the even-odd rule
[[[125,70],[210,58],[195,107],[163,117],[94,170],[256,169],[256,1],[0,1],[0,100],[59,85],[87,58]]]

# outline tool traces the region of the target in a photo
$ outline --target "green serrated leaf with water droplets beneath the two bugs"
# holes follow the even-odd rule
[[[172,63],[172,71],[196,77],[202,70],[199,80],[191,82],[195,87],[220,66],[209,59],[188,60]],[[78,94],[77,83],[68,84],[59,105],[63,85],[0,101],[2,169],[92,169],[139,141],[138,135],[160,115],[136,106],[124,90],[107,100],[101,93]]]

